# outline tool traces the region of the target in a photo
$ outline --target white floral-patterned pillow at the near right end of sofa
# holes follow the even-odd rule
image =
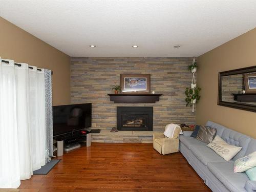
[[[234,162],[234,173],[242,173],[256,166],[256,152],[242,157]]]

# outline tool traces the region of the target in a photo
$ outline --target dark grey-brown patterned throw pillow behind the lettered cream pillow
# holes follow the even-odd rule
[[[216,133],[217,129],[215,128],[200,126],[196,139],[209,144],[214,140]]]

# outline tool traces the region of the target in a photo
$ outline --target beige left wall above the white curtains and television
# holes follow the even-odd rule
[[[0,17],[0,56],[50,69],[53,105],[70,103],[70,57]]]

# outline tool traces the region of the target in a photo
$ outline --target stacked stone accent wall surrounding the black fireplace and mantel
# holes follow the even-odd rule
[[[192,60],[193,57],[72,57],[71,104],[92,103],[92,129],[101,130],[100,134],[92,134],[92,142],[152,143],[153,132],[163,133],[166,124],[194,124],[195,113],[186,107],[184,94],[191,83],[192,74],[187,66]],[[160,100],[112,101],[108,94],[114,94],[111,89],[122,73],[150,73],[151,91],[162,94]],[[116,97],[123,100],[125,96],[120,95]],[[153,131],[110,132],[117,127],[117,106],[153,107]]]

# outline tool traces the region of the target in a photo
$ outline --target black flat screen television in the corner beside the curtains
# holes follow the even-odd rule
[[[92,126],[92,103],[53,106],[53,136]]]

